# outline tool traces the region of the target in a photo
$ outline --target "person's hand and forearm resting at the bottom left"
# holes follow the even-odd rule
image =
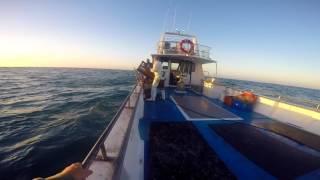
[[[81,163],[73,163],[58,174],[47,178],[35,178],[33,180],[83,180],[90,174],[92,174],[92,171],[83,169]]]

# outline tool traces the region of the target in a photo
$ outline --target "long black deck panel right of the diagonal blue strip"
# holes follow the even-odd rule
[[[210,127],[242,155],[280,179],[293,179],[320,168],[320,158],[295,149],[257,127],[232,123]]]

